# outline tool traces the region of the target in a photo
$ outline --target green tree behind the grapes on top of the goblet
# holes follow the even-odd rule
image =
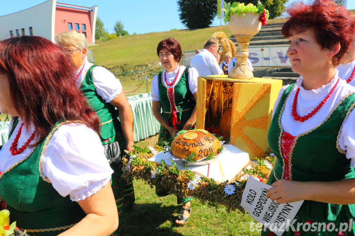
[[[240,3],[244,2],[245,5],[248,3],[257,5],[257,2],[260,1],[261,4],[263,4],[267,10],[269,10],[269,19],[273,19],[281,16],[285,10],[285,4],[288,0],[225,0],[226,3],[230,2],[231,4],[235,1]]]

